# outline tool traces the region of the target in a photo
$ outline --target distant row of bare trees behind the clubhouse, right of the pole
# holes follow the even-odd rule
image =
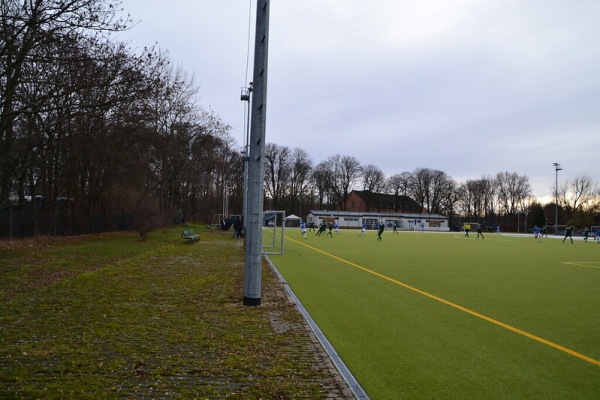
[[[308,211],[306,207],[346,210],[348,194],[364,190],[396,199],[408,196],[424,213],[449,216],[455,225],[460,220],[478,221],[517,230],[525,228],[517,226],[520,220],[529,226],[554,224],[556,203],[540,204],[529,178],[516,172],[465,182],[430,168],[386,177],[376,165],[361,165],[353,156],[333,155],[313,166],[306,151],[277,144],[267,145],[265,162],[266,204],[273,209],[294,213]],[[600,225],[600,187],[588,175],[561,183],[555,195],[558,224]]]

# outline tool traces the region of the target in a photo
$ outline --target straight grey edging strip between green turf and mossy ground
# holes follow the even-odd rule
[[[352,391],[352,394],[354,394],[354,397],[356,397],[359,400],[369,400],[369,396],[367,396],[367,393],[360,386],[360,384],[358,383],[356,378],[354,378],[354,375],[352,375],[352,372],[350,372],[350,370],[348,369],[346,364],[344,364],[344,361],[342,360],[342,358],[335,351],[335,349],[333,348],[331,343],[329,343],[329,340],[327,340],[327,338],[325,337],[325,335],[323,334],[323,332],[321,331],[319,326],[312,319],[312,317],[310,316],[310,314],[308,313],[306,308],[304,308],[300,299],[298,299],[298,297],[296,297],[296,294],[294,293],[292,288],[290,288],[290,286],[287,284],[285,278],[283,277],[283,275],[281,275],[281,273],[279,272],[279,270],[277,269],[275,264],[273,264],[273,262],[271,261],[271,259],[269,258],[268,255],[265,255],[265,259],[271,266],[271,269],[275,272],[275,275],[277,275],[277,277],[283,284],[283,287],[285,288],[287,293],[290,295],[290,297],[296,304],[296,307],[298,307],[298,310],[300,310],[300,313],[302,314],[302,316],[304,316],[304,319],[306,320],[306,322],[308,322],[310,329],[313,331],[313,333],[319,340],[319,343],[321,343],[321,346],[323,346],[323,349],[325,350],[325,352],[331,359],[331,362],[333,363],[333,365],[335,365],[337,370],[340,372],[340,375],[342,376],[344,381],[346,381],[346,384],[348,384],[348,387]]]

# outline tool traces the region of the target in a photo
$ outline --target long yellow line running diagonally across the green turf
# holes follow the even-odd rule
[[[465,307],[463,307],[463,306],[461,306],[461,305],[458,305],[458,304],[456,304],[456,303],[452,303],[451,301],[448,301],[448,300],[442,299],[441,297],[437,297],[437,296],[435,296],[435,295],[433,295],[433,294],[431,294],[431,293],[424,292],[424,291],[422,291],[422,290],[420,290],[420,289],[417,289],[417,288],[415,288],[415,287],[413,287],[413,286],[407,285],[406,283],[403,283],[403,282],[397,281],[397,280],[395,280],[395,279],[393,279],[393,278],[390,278],[389,276],[382,275],[382,274],[380,274],[380,273],[378,273],[378,272],[375,272],[375,271],[373,271],[373,270],[370,270],[370,269],[368,269],[368,268],[365,268],[365,267],[363,267],[363,266],[361,266],[361,265],[355,264],[355,263],[353,263],[353,262],[351,262],[351,261],[345,260],[345,259],[343,259],[343,258],[340,258],[340,257],[338,257],[338,256],[334,256],[333,254],[330,254],[330,253],[327,253],[327,252],[325,252],[325,251],[323,251],[323,250],[317,249],[316,247],[309,246],[309,245],[307,245],[307,244],[305,244],[305,243],[302,243],[302,242],[300,242],[300,241],[298,241],[298,240],[292,239],[292,238],[290,238],[290,237],[286,237],[286,239],[288,239],[288,240],[291,240],[292,242],[298,243],[298,244],[300,244],[300,245],[302,245],[302,246],[308,247],[309,249],[311,249],[311,250],[314,250],[314,251],[316,251],[316,252],[318,252],[318,253],[321,253],[321,254],[323,254],[323,255],[326,255],[327,257],[331,257],[331,258],[333,258],[333,259],[335,259],[335,260],[338,260],[338,261],[340,261],[340,262],[343,262],[343,263],[345,263],[345,264],[351,265],[351,266],[353,266],[353,267],[355,267],[355,268],[361,269],[361,270],[363,270],[363,271],[365,271],[365,272],[368,272],[368,273],[370,273],[370,274],[372,274],[372,275],[378,276],[378,277],[380,277],[380,278],[382,278],[382,279],[385,279],[386,281],[389,281],[389,282],[395,283],[396,285],[399,285],[399,286],[402,286],[402,287],[404,287],[404,288],[406,288],[406,289],[412,290],[413,292],[416,292],[416,293],[422,294],[423,296],[427,296],[427,297],[429,297],[429,298],[431,298],[431,299],[433,299],[433,300],[439,301],[440,303],[444,303],[444,304],[446,304],[446,305],[448,305],[448,306],[450,306],[450,307],[454,307],[454,308],[456,308],[456,309],[458,309],[458,310],[461,310],[461,311],[463,311],[463,312],[466,312],[467,314],[471,314],[471,315],[473,315],[473,316],[475,316],[475,317],[477,317],[477,318],[480,318],[480,319],[482,319],[482,320],[484,320],[484,321],[490,322],[490,323],[492,323],[492,324],[494,324],[494,325],[498,325],[498,326],[500,326],[500,327],[502,327],[502,328],[504,328],[504,329],[508,329],[509,331],[512,331],[512,332],[518,333],[519,335],[523,335],[523,336],[525,336],[525,337],[528,337],[529,339],[533,339],[533,340],[535,340],[536,342],[543,343],[543,344],[545,344],[545,345],[547,345],[547,346],[553,347],[553,348],[555,348],[555,349],[557,349],[557,350],[560,350],[560,351],[562,351],[562,352],[564,352],[564,353],[570,354],[570,355],[572,355],[572,356],[575,356],[575,357],[577,357],[577,358],[580,358],[580,359],[582,359],[582,360],[584,360],[584,361],[587,361],[587,362],[589,362],[589,363],[592,363],[592,364],[595,364],[595,365],[599,365],[599,366],[600,366],[600,361],[599,361],[599,360],[596,360],[596,359],[594,359],[594,358],[588,357],[588,356],[586,356],[586,355],[584,355],[584,354],[578,353],[578,352],[576,352],[576,351],[574,351],[574,350],[568,349],[568,348],[566,348],[566,347],[564,347],[564,346],[561,346],[561,345],[559,345],[559,344],[556,344],[556,343],[554,343],[554,342],[551,342],[551,341],[549,341],[549,340],[546,340],[546,339],[544,339],[544,338],[541,338],[541,337],[539,337],[539,336],[533,335],[533,334],[531,334],[531,333],[529,333],[529,332],[525,332],[525,331],[523,331],[523,330],[521,330],[521,329],[515,328],[514,326],[507,325],[507,324],[505,324],[504,322],[500,322],[500,321],[498,321],[498,320],[495,320],[495,319],[493,319],[493,318],[487,317],[487,316],[485,316],[485,315],[483,315],[483,314],[479,314],[478,312],[475,312],[475,311],[473,311],[473,310],[470,310],[470,309],[468,309],[468,308],[465,308]]]

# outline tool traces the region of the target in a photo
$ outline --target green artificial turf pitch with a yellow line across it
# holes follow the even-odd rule
[[[599,244],[286,236],[272,261],[372,399],[600,397]]]

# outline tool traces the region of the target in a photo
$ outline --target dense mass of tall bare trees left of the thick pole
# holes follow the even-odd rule
[[[231,128],[198,106],[193,78],[167,54],[114,40],[132,25],[119,5],[0,3],[5,235],[15,215],[11,229],[22,234],[119,224],[143,233],[173,218],[208,219],[226,185],[241,192]]]

